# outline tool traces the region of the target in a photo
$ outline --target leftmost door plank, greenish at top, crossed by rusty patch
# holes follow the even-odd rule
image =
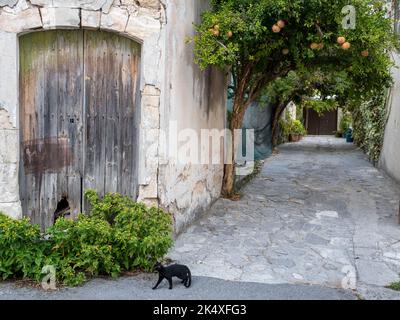
[[[51,36],[51,34],[49,34]],[[24,164],[20,175],[21,198],[27,215],[32,222],[42,226],[46,224],[43,214],[43,202],[46,200],[45,180],[40,158],[43,154],[43,138],[45,135],[45,85],[43,75],[45,65],[44,51],[48,46],[48,37],[43,34],[32,34],[21,43],[21,148]],[[21,181],[23,180],[23,181]]]

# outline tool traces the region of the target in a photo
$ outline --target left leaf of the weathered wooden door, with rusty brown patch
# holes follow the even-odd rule
[[[20,193],[24,214],[42,229],[53,223],[64,193],[72,190],[69,202],[80,208],[82,163],[71,154],[82,137],[65,120],[82,114],[82,42],[81,32],[57,30],[20,39]]]

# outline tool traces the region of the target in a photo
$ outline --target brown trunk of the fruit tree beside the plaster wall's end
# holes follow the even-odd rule
[[[241,102],[240,98],[235,98],[233,104],[232,119],[229,125],[231,131],[231,152],[229,153],[230,163],[224,166],[224,180],[222,184],[222,195],[226,198],[231,198],[235,193],[235,160],[238,141],[235,140],[235,130],[241,130],[243,127],[243,119],[246,113],[246,106]]]

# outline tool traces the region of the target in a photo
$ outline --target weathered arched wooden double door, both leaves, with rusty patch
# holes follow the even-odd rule
[[[88,188],[136,199],[140,46],[83,30],[20,38],[20,196],[43,228]]]

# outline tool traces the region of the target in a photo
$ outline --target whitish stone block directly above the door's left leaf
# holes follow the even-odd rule
[[[79,28],[79,9],[71,8],[41,8],[43,28]]]

